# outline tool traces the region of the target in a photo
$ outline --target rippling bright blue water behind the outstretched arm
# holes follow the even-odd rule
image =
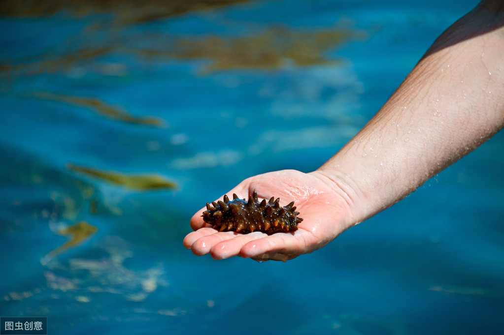
[[[502,133],[293,261],[214,261],[181,244],[190,217],[244,178],[317,169],[475,4],[3,15],[0,316],[46,316],[50,334],[503,333]],[[97,231],[51,254],[83,221]]]

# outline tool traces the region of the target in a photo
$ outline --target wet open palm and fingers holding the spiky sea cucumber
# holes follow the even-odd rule
[[[311,253],[354,224],[347,222],[348,200],[345,200],[344,192],[335,189],[335,185],[321,172],[304,174],[284,170],[248,178],[227,195],[236,193],[240,199],[247,199],[256,191],[259,198],[280,198],[281,206],[294,201],[299,217],[303,218],[298,230],[272,235],[263,232],[219,232],[203,221],[201,215],[206,208],[202,208],[191,219],[191,227],[195,231],[187,234],[183,244],[195,255],[210,253],[216,260],[241,256],[256,261],[286,262]]]

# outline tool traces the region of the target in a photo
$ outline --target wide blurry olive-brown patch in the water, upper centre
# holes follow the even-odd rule
[[[361,34],[347,29],[294,31],[287,27],[269,27],[261,33],[235,38],[204,36],[179,38],[169,50],[157,47],[146,55],[177,59],[209,59],[204,72],[237,68],[272,70],[287,64],[310,66],[338,62],[326,52]],[[159,45],[162,45],[161,43]]]

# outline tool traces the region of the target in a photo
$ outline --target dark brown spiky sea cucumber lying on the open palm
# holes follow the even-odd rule
[[[273,234],[297,230],[297,224],[303,219],[297,217],[299,212],[295,212],[294,202],[281,207],[279,201],[280,198],[275,200],[272,197],[268,202],[266,199],[259,202],[256,192],[248,198],[248,202],[239,199],[236,194],[233,194],[233,200],[225,195],[223,201],[212,202],[212,206],[207,203],[207,210],[202,216],[205,222],[219,231]]]

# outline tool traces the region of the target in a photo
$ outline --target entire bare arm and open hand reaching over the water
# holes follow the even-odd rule
[[[392,206],[504,126],[504,2],[483,1],[430,47],[387,103],[317,171],[248,178],[240,198],[295,201],[298,230],[218,232],[191,219],[183,240],[195,255],[287,261],[319,249]],[[222,197],[220,198],[222,199]]]

